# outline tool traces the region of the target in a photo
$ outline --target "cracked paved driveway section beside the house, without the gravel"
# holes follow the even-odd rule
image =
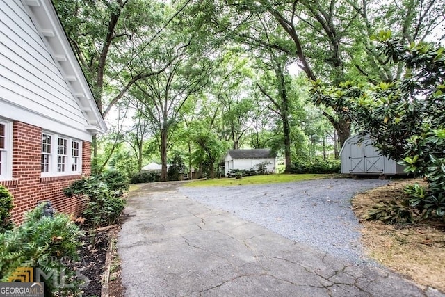
[[[211,209],[180,185],[143,184],[128,199],[118,237],[125,296],[444,296]]]

